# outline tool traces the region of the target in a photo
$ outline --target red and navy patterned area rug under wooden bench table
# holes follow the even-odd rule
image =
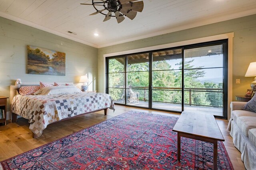
[[[22,170],[212,169],[213,145],[208,142],[182,137],[177,161],[177,133],[172,131],[177,120],[129,111],[0,163],[3,169]],[[233,170],[222,142],[218,169]]]

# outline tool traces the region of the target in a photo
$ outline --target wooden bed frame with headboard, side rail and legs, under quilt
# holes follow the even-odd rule
[[[66,83],[60,83],[60,84],[64,84],[65,85]],[[73,83],[72,82],[71,83],[68,82],[67,84],[73,84]],[[39,83],[22,83],[22,86],[30,86],[30,85],[39,85]],[[10,86],[10,103],[12,103],[12,99],[14,98],[14,96],[17,95],[16,94],[17,93],[17,89],[19,89],[19,87],[17,85],[11,85]],[[10,107],[10,109],[11,109],[11,107]],[[104,115],[108,114],[108,107],[107,107],[107,108],[104,108],[104,109],[99,109],[99,110],[96,110],[96,111],[91,111],[91,112],[83,113],[83,114],[76,115],[76,116],[73,116],[73,117],[68,117],[68,118],[62,119],[60,121],[65,121],[65,120],[68,120],[68,119],[72,119],[74,117],[79,117],[79,116],[82,116],[82,115],[86,115],[86,114],[89,114],[89,113],[98,112],[98,111],[102,111],[102,110],[104,110]],[[12,123],[16,123],[17,122],[17,116],[18,116],[17,114],[12,113]],[[53,123],[57,123],[57,122],[60,122],[60,121],[56,121],[56,122],[53,122]],[[53,123],[50,123],[50,124],[53,124]],[[36,138],[37,137],[34,134],[34,132],[31,131],[31,133],[32,133],[32,138]]]

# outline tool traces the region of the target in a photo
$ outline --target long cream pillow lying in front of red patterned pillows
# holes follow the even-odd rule
[[[82,91],[73,85],[70,86],[48,86],[39,89],[34,95],[60,95],[60,94],[73,94],[81,93]]]

